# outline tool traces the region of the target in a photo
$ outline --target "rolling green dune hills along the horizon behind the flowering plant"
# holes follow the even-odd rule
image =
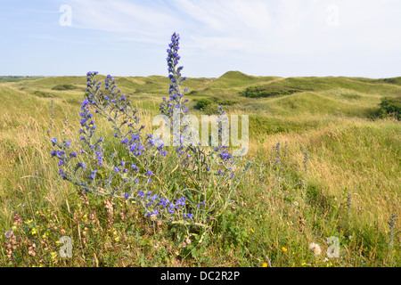
[[[99,76],[98,80],[104,78]],[[168,77],[115,78],[129,100],[141,102],[154,112],[159,111],[157,102],[161,97],[168,95]],[[206,113],[213,113],[222,105],[227,110],[258,113],[258,116],[327,114],[372,118],[378,113],[382,98],[401,97],[400,83],[401,77],[254,77],[228,71],[217,78],[190,77],[183,86],[189,89],[188,106]],[[19,77],[3,84],[12,93],[23,94],[26,101],[55,100],[78,105],[86,92],[86,76]],[[386,115],[381,112],[381,117],[383,114]]]

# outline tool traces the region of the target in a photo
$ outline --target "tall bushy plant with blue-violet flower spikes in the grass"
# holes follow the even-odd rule
[[[229,148],[220,144],[209,148],[188,142],[188,108],[182,91],[184,69],[180,61],[179,35],[168,45],[169,98],[163,98],[160,111],[171,121],[175,138],[173,146],[165,146],[161,137],[143,134],[144,126],[138,111],[117,89],[108,75],[102,82],[97,72],[87,73],[87,93],[79,116],[78,139],[51,140],[57,150],[59,175],[75,184],[80,192],[135,201],[143,208],[143,216],[171,224],[209,229],[232,203],[233,191],[244,170],[234,161]],[[181,121],[175,128],[173,118]],[[101,134],[99,124],[110,127],[112,135]],[[217,110],[217,141],[226,135],[228,118]],[[222,143],[221,143],[222,144]]]

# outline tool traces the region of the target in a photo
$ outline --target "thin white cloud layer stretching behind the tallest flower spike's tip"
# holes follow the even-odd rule
[[[187,47],[262,54],[386,51],[401,47],[397,0],[70,0],[73,25],[121,41],[162,45],[172,31]],[[338,8],[339,26],[327,23]],[[168,35],[168,36],[167,36]],[[384,44],[384,45],[383,45]]]

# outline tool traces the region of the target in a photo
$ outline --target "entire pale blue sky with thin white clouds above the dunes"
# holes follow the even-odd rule
[[[0,76],[401,76],[400,0],[0,0]]]

